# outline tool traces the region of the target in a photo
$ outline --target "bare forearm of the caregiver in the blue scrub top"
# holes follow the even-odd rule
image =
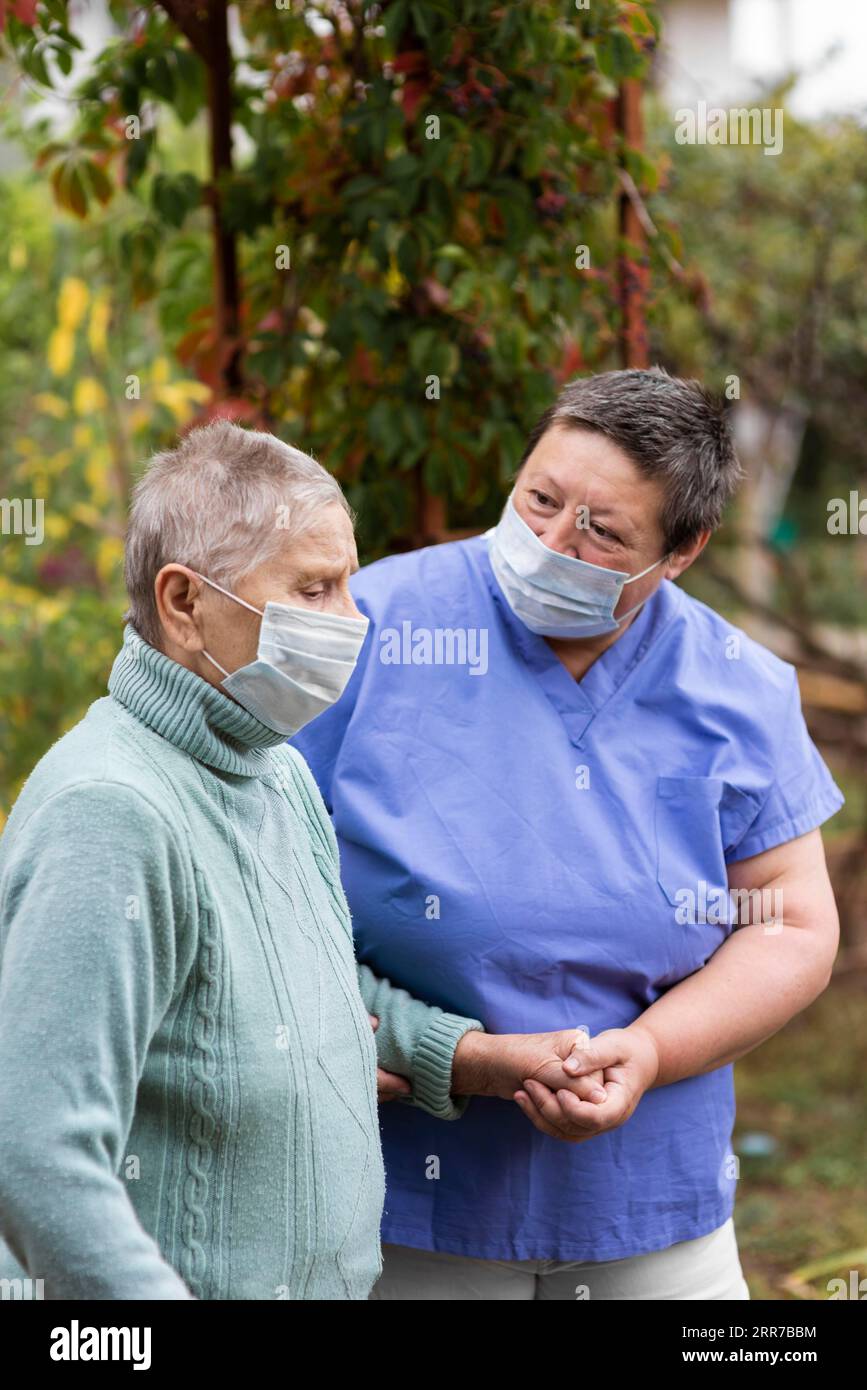
[[[823,992],[832,962],[827,935],[802,927],[734,931],[702,970],[629,1026],[656,1045],[653,1086],[713,1072],[750,1052]]]

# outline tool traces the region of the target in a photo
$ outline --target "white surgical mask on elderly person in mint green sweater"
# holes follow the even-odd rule
[[[229,674],[203,648],[203,656],[222,671],[225,680],[220,684],[226,695],[286,737],[297,734],[340,698],[356,669],[370,619],[271,602],[263,612],[197,570],[193,574],[261,617],[257,657],[247,666]]]

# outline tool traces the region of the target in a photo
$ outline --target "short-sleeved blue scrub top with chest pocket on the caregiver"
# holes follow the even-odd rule
[[[514,617],[484,537],[379,560],[352,589],[371,620],[358,669],[293,742],[333,817],[358,958],[490,1033],[625,1027],[732,930],[725,866],[843,802],[795,669],[670,581],[581,681]],[[446,664],[446,628],[475,631],[475,671]],[[382,1238],[589,1261],[707,1234],[732,1212],[734,1116],[731,1065],[581,1144],[514,1101],[474,1097],[449,1123],[392,1101]]]

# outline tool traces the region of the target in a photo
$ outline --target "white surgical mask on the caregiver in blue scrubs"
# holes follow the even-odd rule
[[[517,513],[514,493],[496,527],[486,531],[490,566],[509,606],[539,637],[600,637],[614,632],[642,605],[621,617],[614,609],[627,584],[668,559],[663,555],[639,574],[560,555],[539,539]]]

